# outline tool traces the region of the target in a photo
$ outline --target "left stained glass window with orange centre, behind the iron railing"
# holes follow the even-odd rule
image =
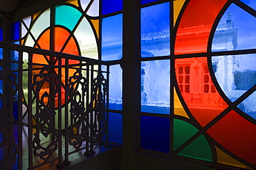
[[[122,58],[122,0],[66,1],[66,3],[13,22],[12,42],[91,59],[120,60]],[[17,54],[13,52],[12,56],[17,56]],[[75,64],[71,60],[68,62]],[[28,68],[27,63],[28,54],[24,53],[24,69]],[[57,59],[51,59],[50,56],[40,54],[33,54],[33,63],[58,64]],[[23,74],[23,80],[27,82],[28,72],[24,71]],[[62,74],[64,75],[64,72]],[[73,71],[70,70],[68,74],[73,74]],[[62,77],[64,84],[64,76]],[[109,109],[114,113],[109,114],[109,121],[110,123],[118,121],[118,124],[109,125],[109,140],[121,144],[122,68],[120,65],[110,67],[110,77]],[[118,83],[116,83],[116,80],[118,80]],[[26,100],[28,96],[26,92],[28,85],[24,83],[23,88],[25,108],[27,107]],[[64,92],[64,88],[63,85],[62,92]],[[43,88],[43,91],[47,90],[49,90],[49,87]],[[62,97],[63,107],[64,95]],[[56,96],[56,105],[57,102]],[[24,121],[27,121],[26,119],[27,117],[24,115]]]

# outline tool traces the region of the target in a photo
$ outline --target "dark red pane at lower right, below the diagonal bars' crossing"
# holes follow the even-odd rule
[[[250,123],[235,111],[230,111],[207,132],[235,156],[256,164],[256,126],[254,123]]]

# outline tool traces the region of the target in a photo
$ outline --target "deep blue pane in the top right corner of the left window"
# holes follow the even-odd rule
[[[102,0],[102,14],[122,10],[122,0]]]

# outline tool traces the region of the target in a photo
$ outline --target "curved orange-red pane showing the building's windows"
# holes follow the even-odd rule
[[[210,90],[209,85],[204,84],[205,69],[208,70],[206,57],[175,59],[175,68],[179,91],[202,127],[228,107],[215,89]],[[181,82],[181,76],[185,81]],[[211,80],[208,76],[208,81]]]

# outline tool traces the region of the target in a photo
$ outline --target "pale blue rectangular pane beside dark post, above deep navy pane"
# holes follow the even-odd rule
[[[141,62],[141,111],[170,114],[170,61]]]

